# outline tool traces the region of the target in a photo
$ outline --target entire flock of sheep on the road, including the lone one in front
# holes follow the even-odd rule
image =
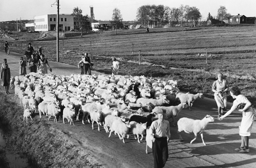
[[[24,120],[32,120],[32,114],[39,112],[59,117],[65,124],[65,119],[73,124],[73,119],[79,120],[83,114],[82,123],[86,118],[88,123],[103,124],[105,131],[111,136],[114,132],[122,139],[133,134],[138,142],[143,138],[146,129],[151,125],[155,112],[166,111],[166,119],[174,117],[183,109],[192,106],[195,99],[202,93],[181,93],[177,81],[162,81],[145,76],[111,76],[111,75],[70,75],[29,73],[26,76],[11,77],[11,89],[15,87],[15,99],[18,98],[24,107]],[[181,118],[178,122],[178,133],[202,133],[209,122],[214,119],[206,116],[202,120]],[[141,138],[139,136],[141,135]],[[201,134],[202,136],[202,134]],[[181,140],[182,137],[180,136]],[[146,138],[147,141],[147,138]],[[203,141],[203,138],[202,138]],[[204,141],[203,144],[205,145]],[[151,142],[147,141],[151,147]]]

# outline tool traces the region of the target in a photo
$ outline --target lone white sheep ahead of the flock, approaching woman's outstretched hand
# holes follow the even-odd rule
[[[194,120],[194,119],[186,118],[186,117],[179,119],[178,123],[177,123],[178,124],[177,133],[179,134],[180,140],[183,141],[183,138],[181,137],[182,131],[184,131],[186,133],[191,133],[191,132],[194,133],[195,138],[192,139],[192,141],[190,141],[190,144],[192,144],[196,140],[197,134],[200,133],[202,141],[203,141],[203,145],[206,145],[203,140],[203,131],[206,128],[206,126],[208,125],[208,123],[210,123],[210,122],[214,122],[214,118],[210,115],[206,115],[201,120],[199,120],[199,119]]]

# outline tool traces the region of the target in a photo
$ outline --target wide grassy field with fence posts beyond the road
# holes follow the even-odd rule
[[[43,47],[49,60],[56,61],[56,40],[30,41]],[[91,50],[90,50],[91,42]],[[24,54],[28,41],[12,41],[11,51]],[[133,54],[132,54],[133,44]],[[182,91],[213,97],[211,85],[223,72],[230,85],[256,104],[256,30],[254,26],[179,27],[117,30],[85,34],[83,38],[60,38],[59,61],[77,65],[88,52],[94,70],[110,74],[112,57],[121,63],[120,74],[145,75],[178,80]],[[206,54],[207,48],[207,64]],[[138,64],[140,51],[141,65]],[[155,66],[160,65],[160,66]],[[228,97],[232,101],[231,96]]]

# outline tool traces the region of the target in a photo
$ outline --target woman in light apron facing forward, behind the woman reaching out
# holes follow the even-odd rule
[[[218,73],[217,80],[212,84],[212,91],[214,92],[214,99],[218,106],[218,118],[223,115],[223,111],[227,107],[228,81],[223,79],[223,74]]]

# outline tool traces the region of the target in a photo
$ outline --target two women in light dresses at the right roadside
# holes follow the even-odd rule
[[[233,99],[233,105],[229,111],[224,114],[227,107],[227,92],[229,90],[229,84],[227,80],[223,79],[223,74],[217,74],[217,80],[213,82],[212,91],[214,92],[214,99],[218,106],[218,119],[230,115],[234,110],[242,112],[242,121],[239,127],[239,135],[241,136],[241,146],[234,150],[247,153],[249,149],[249,136],[251,136],[251,130],[254,120],[254,110],[251,102],[244,96],[241,95],[241,90],[237,86],[233,86],[230,89],[230,95]],[[243,105],[243,106],[241,106]]]

